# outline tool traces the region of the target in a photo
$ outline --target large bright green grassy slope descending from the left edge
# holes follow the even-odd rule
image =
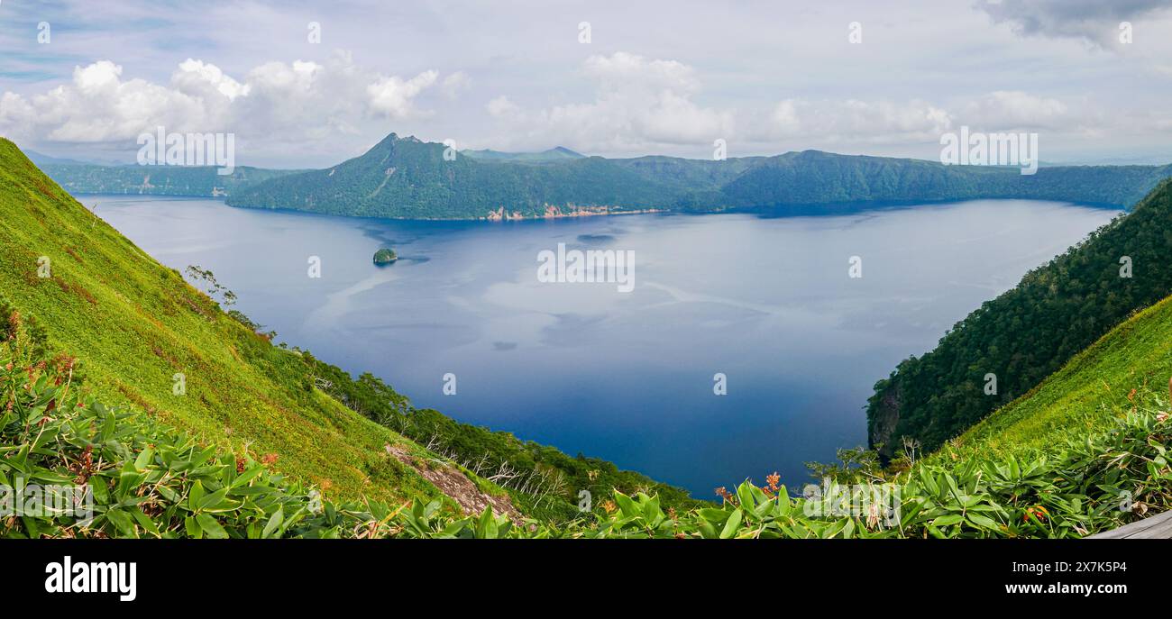
[[[0,213],[0,294],[81,359],[108,404],[134,404],[205,440],[275,454],[285,472],[342,496],[438,495],[384,449],[417,445],[314,389],[299,356],[226,317],[6,140]],[[39,273],[41,257],[48,272]],[[185,395],[173,394],[177,373]]]

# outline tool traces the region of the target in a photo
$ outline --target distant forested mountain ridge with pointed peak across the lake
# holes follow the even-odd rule
[[[229,204],[332,215],[470,219],[667,210],[857,211],[867,203],[1037,198],[1131,205],[1170,166],[1017,169],[819,151],[724,161],[606,159],[546,151],[444,158],[443,144],[391,134],[361,157],[250,184]],[[554,154],[554,155],[551,155]],[[557,155],[557,156],[556,156]],[[574,154],[577,155],[577,154]],[[449,157],[450,158],[450,157]]]

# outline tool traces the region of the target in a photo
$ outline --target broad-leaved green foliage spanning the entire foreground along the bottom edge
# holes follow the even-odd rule
[[[334,501],[246,448],[206,444],[103,406],[87,393],[76,359],[49,356],[43,331],[11,307],[0,315],[0,483],[93,496],[89,513],[0,518],[0,537],[1079,537],[1172,503],[1172,423],[1142,407],[1049,456],[953,454],[954,462],[914,463],[887,478],[873,467],[844,468],[808,498],[791,498],[776,476],[764,487],[742,483],[718,508],[686,511],[615,491],[599,513],[560,525],[488,508],[462,516],[438,498]],[[857,506],[836,511],[840,497]],[[887,519],[886,508],[898,518]]]

